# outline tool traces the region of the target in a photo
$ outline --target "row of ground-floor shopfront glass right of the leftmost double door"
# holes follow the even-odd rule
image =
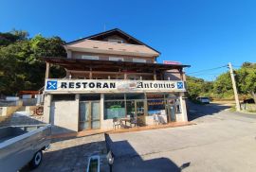
[[[104,95],[104,119],[154,114],[174,116],[179,112],[181,106],[178,95],[164,93]]]

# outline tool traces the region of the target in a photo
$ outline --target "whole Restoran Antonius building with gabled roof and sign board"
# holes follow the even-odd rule
[[[182,64],[156,63],[160,53],[120,29],[64,44],[67,58],[46,60],[44,119],[73,131],[113,129],[113,118],[137,125],[186,122]],[[48,78],[50,64],[64,78]]]

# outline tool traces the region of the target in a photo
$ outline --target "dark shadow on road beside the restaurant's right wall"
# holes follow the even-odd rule
[[[222,112],[230,108],[230,106],[225,106],[217,103],[210,103],[206,105],[195,104],[192,101],[187,101],[188,108],[188,119],[192,121],[196,118],[200,118],[205,115],[213,115],[218,112]]]

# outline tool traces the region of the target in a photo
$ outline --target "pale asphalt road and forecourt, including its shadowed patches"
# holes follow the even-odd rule
[[[111,134],[113,171],[255,171],[256,114],[189,108],[196,125]]]

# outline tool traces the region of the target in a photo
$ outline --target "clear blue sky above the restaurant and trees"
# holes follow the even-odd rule
[[[255,0],[5,0],[0,31],[73,41],[119,27],[161,52],[158,62],[191,64],[188,73],[256,62]],[[212,80],[227,68],[195,73]]]

